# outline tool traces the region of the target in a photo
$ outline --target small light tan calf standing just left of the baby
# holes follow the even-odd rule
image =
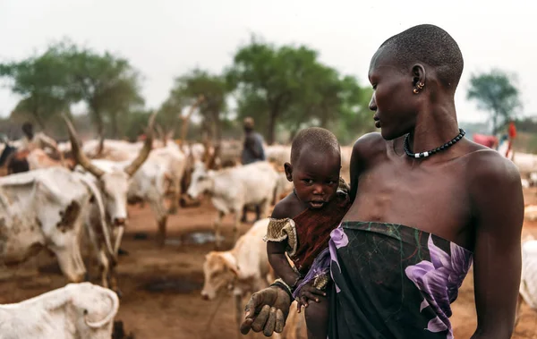
[[[260,219],[239,238],[232,250],[211,251],[205,256],[201,297],[210,301],[221,290],[233,289],[238,325],[243,318],[244,293],[259,291],[274,280],[274,272],[268,264],[267,245],[263,242],[267,226],[268,218]]]

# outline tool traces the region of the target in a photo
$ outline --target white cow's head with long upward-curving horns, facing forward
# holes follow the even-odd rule
[[[149,117],[149,126],[147,132],[147,138],[144,142],[143,148],[141,148],[138,157],[132,160],[130,165],[124,167],[124,169],[115,168],[111,171],[104,171],[95,165],[95,162],[91,162],[86,155],[81,151],[81,147],[78,143],[77,133],[72,126],[72,123],[66,118],[67,128],[69,131],[69,138],[71,140],[72,155],[76,161],[84,167],[86,171],[93,174],[99,181],[99,188],[103,193],[103,199],[105,207],[107,209],[108,221],[113,225],[124,225],[127,218],[127,192],[131,183],[132,175],[138,171],[143,165],[146,159],[149,157],[149,152],[153,143],[153,127],[155,123],[155,115],[151,114]]]

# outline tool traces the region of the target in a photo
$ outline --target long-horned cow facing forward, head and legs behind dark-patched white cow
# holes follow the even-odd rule
[[[101,271],[102,284],[108,285],[119,292],[115,277],[115,264],[117,263],[117,254],[119,245],[124,233],[124,226],[127,220],[127,193],[129,185],[132,182],[132,176],[138,171],[141,165],[149,157],[152,144],[152,131],[155,122],[155,115],[151,114],[149,118],[149,132],[143,148],[141,148],[138,157],[132,162],[115,162],[110,160],[91,160],[81,152],[80,145],[77,141],[77,133],[72,123],[64,117],[69,131],[71,140],[72,156],[76,159],[81,167],[77,166],[79,171],[85,174],[87,180],[92,181],[98,187],[100,195],[105,203],[107,224],[112,225],[112,234],[114,238],[114,255],[108,258],[103,250],[102,234],[99,233],[99,227],[96,226],[96,214],[90,212],[86,219],[87,229],[90,233],[92,244],[96,247],[98,253],[98,262]],[[96,208],[93,206],[93,209]],[[112,265],[110,265],[112,261]]]

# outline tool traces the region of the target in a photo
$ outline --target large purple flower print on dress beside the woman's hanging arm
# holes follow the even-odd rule
[[[450,242],[449,256],[432,242],[430,235],[428,247],[430,261],[422,260],[416,265],[406,267],[405,274],[424,297],[420,312],[430,306],[437,314],[437,317],[429,321],[426,329],[433,333],[447,330],[447,339],[452,339],[450,304],[456,300],[458,288],[463,284],[472,265],[472,252]]]

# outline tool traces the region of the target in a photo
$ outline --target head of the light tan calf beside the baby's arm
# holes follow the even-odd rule
[[[235,258],[229,252],[211,251],[205,256],[203,264],[205,281],[201,297],[205,300],[213,300],[223,288],[230,288],[239,275]]]

